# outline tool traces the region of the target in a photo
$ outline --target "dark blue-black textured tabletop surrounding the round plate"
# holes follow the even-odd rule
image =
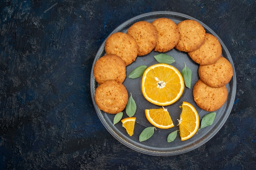
[[[250,0],[0,1],[0,169],[254,169],[256,2]],[[206,144],[155,157],[118,142],[90,96],[98,48],[126,20],[174,11],[209,26],[236,69],[234,107]]]

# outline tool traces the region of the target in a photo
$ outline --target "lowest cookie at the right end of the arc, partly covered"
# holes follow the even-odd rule
[[[204,84],[200,79],[193,87],[193,97],[196,104],[203,110],[216,111],[227,100],[226,86],[213,88]]]

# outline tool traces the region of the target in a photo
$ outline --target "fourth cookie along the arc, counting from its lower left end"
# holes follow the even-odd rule
[[[138,56],[150,53],[157,44],[157,30],[146,21],[135,22],[128,28],[128,35],[131,35],[138,45]]]

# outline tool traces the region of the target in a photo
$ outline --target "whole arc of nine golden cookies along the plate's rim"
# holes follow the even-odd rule
[[[126,78],[126,66],[137,56],[152,50],[167,52],[176,48],[188,52],[198,63],[199,77],[193,87],[196,104],[206,111],[219,109],[227,100],[227,88],[233,76],[231,63],[221,57],[222,47],[218,39],[205,32],[195,20],[175,24],[168,18],[158,18],[152,23],[135,22],[127,33],[113,33],[105,43],[106,55],[94,65],[94,78],[99,84],[95,90],[95,102],[106,113],[116,114],[125,109],[128,92],[122,84]]]

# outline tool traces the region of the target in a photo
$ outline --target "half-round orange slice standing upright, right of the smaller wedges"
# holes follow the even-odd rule
[[[199,116],[195,107],[188,102],[183,102],[180,106],[182,113],[180,115],[179,128],[180,139],[182,141],[191,138],[198,131],[199,128]]]

